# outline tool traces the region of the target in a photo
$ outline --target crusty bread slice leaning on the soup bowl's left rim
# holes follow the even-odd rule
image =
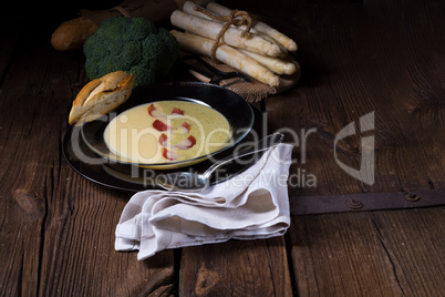
[[[85,84],[70,112],[70,125],[80,123],[87,114],[99,117],[116,109],[132,94],[134,76],[124,71],[108,73]]]

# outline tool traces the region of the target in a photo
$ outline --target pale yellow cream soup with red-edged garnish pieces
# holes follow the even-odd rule
[[[104,141],[123,161],[158,164],[196,158],[228,144],[230,125],[216,110],[186,101],[130,109],[105,129]]]

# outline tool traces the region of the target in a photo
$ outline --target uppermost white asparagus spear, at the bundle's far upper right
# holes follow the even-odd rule
[[[220,14],[220,16],[228,16],[231,11],[231,9],[226,8],[226,7],[215,3],[215,2],[209,2],[206,8],[209,11]],[[270,35],[272,39],[275,39],[278,43],[283,45],[289,51],[291,51],[291,52],[297,51],[297,49],[298,49],[297,43],[292,39],[288,38],[287,35],[279,32],[278,30],[271,28],[267,23],[261,22],[261,21],[256,21],[252,27],[256,30]]]

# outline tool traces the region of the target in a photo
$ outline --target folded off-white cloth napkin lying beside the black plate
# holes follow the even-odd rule
[[[239,175],[200,193],[143,191],[116,227],[116,250],[142,260],[167,248],[283,235],[290,225],[287,180],[292,145],[279,144]]]

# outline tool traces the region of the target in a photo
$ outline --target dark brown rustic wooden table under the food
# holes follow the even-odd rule
[[[286,236],[165,250],[143,262],[115,252],[131,195],[83,178],[61,154],[71,103],[87,82],[83,54],[50,44],[66,16],[14,23],[3,16],[0,296],[443,296],[444,2],[222,2],[255,10],[299,44],[300,83],[265,101],[270,131],[314,131],[304,163],[296,147],[291,174],[304,170],[315,186],[289,188],[294,215]],[[372,130],[358,124],[335,142],[371,112]],[[334,158],[335,150],[359,168],[366,136],[375,140],[372,185]],[[436,206],[363,211],[373,197],[422,202],[418,193],[435,196]]]

